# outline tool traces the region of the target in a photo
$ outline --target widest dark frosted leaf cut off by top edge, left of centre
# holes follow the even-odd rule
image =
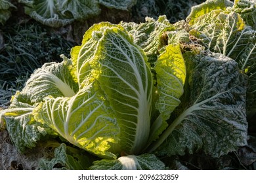
[[[100,13],[96,1],[91,0],[20,0],[25,5],[25,13],[41,24],[62,27]]]

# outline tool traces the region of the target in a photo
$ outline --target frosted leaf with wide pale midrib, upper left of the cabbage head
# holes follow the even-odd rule
[[[65,57],[61,63],[45,63],[35,70],[26,82],[22,93],[26,93],[32,103],[43,101],[44,97],[72,97],[78,90],[73,65]]]

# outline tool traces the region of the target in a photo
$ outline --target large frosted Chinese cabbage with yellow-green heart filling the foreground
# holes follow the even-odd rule
[[[213,5],[207,3],[203,6]],[[214,8],[222,11],[207,10],[212,14]],[[216,26],[229,33],[228,40],[220,37],[216,51],[205,41],[210,39],[198,36],[198,22],[207,21],[200,19],[204,11],[196,12],[202,10],[192,10],[190,20],[198,18],[192,25],[172,25],[165,16],[141,24],[93,25],[71,58],[62,55],[61,63],[45,63],[30,76],[1,112],[1,126],[20,152],[60,137],[98,157],[89,169],[167,169],[161,157],[202,152],[216,158],[246,145],[248,82],[237,60],[242,54],[234,58],[223,50],[232,53],[235,48],[224,43],[233,32],[244,37],[249,28],[240,15],[229,18],[232,8],[216,22],[205,22],[238,21],[226,23],[236,31]],[[241,50],[240,37],[232,43]],[[65,154],[65,148],[56,152]],[[58,153],[53,161],[78,166]],[[52,169],[53,161],[41,163],[43,169]]]

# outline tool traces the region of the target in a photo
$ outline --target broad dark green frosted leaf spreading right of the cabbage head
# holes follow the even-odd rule
[[[159,146],[160,156],[202,150],[219,157],[247,144],[245,78],[238,64],[221,54],[187,54],[185,59],[191,93],[149,152]]]

